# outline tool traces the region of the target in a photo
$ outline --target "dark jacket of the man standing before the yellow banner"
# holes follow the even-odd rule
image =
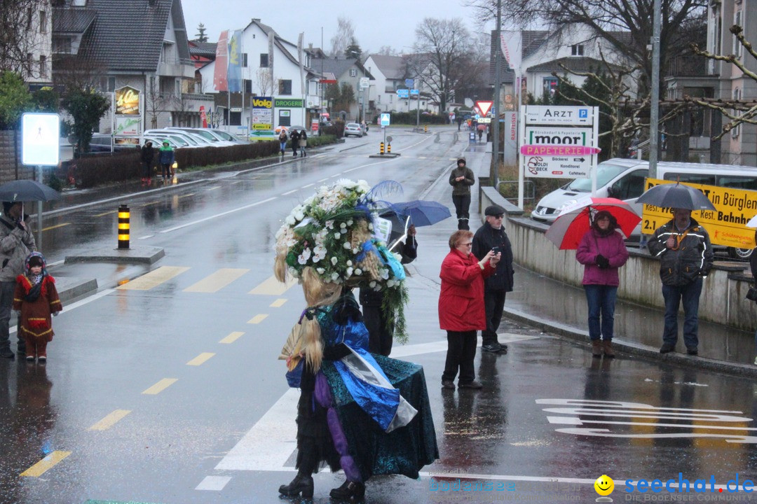
[[[678,246],[668,249],[665,242],[674,237]],[[675,228],[675,220],[655,231],[654,236],[646,243],[650,254],[660,258],[660,279],[664,285],[684,286],[709,274],[712,268],[712,245],[709,234],[693,218],[689,227],[683,232]]]

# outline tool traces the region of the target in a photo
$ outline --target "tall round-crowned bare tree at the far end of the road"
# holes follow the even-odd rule
[[[416,51],[408,58],[410,76],[431,90],[439,109],[447,109],[453,91],[465,82],[473,59],[471,36],[459,18],[438,20],[426,17],[416,28]]]

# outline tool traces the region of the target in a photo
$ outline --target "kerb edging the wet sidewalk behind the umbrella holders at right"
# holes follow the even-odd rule
[[[588,331],[577,329],[572,326],[566,326],[555,320],[536,317],[523,311],[513,310],[512,308],[505,307],[504,314],[511,320],[528,323],[539,329],[554,332],[556,335],[562,336],[563,338],[581,342],[586,345],[587,350],[589,349],[587,344],[589,341]],[[660,354],[658,348],[650,347],[649,345],[641,345],[640,343],[625,342],[622,339],[617,338],[612,339],[612,348],[613,350],[624,354],[643,357],[644,359],[657,361],[659,363],[670,363],[681,367],[696,367],[698,369],[707,369],[709,371],[727,373],[743,378],[757,379],[757,366],[752,366],[751,364],[727,362],[724,360],[709,359],[707,357],[679,354],[678,352]]]

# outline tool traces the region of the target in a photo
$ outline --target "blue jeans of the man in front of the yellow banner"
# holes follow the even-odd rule
[[[699,295],[702,293],[702,279],[697,278],[684,286],[662,286],[665,298],[665,329],[662,342],[675,345],[678,341],[678,307],[684,302],[684,345],[696,348],[699,338],[696,330],[699,324]]]

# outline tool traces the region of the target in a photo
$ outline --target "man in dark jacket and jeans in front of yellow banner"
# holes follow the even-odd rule
[[[661,354],[675,350],[678,342],[678,307],[684,303],[684,344],[687,354],[699,353],[697,337],[699,295],[702,277],[712,268],[712,245],[704,227],[691,218],[691,210],[673,209],[673,220],[655,231],[646,244],[660,258],[662,297],[665,298],[665,329]]]

